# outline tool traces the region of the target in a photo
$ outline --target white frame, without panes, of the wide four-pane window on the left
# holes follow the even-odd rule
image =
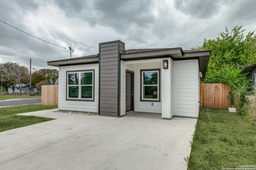
[[[68,84],[68,74],[78,73],[79,84]],[[81,84],[81,74],[92,73],[92,84]],[[69,87],[79,87],[79,97],[69,97]],[[82,86],[92,86],[92,98],[82,98]],[[67,71],[67,100],[94,101],[94,70]]]

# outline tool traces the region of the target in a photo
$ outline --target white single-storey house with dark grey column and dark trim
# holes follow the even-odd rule
[[[49,61],[59,67],[59,109],[123,116],[127,112],[198,117],[200,79],[209,50],[125,49],[99,44],[91,56]]]

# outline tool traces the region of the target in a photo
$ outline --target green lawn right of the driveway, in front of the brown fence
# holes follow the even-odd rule
[[[224,109],[200,109],[188,169],[256,165],[256,126]]]

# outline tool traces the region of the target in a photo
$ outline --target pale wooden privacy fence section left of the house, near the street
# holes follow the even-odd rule
[[[58,105],[58,85],[42,86],[42,105]]]

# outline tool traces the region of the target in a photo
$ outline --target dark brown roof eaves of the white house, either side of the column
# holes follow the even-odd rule
[[[148,59],[161,57],[171,57],[174,61],[182,59],[199,59],[199,69],[204,77],[207,71],[210,50],[183,50],[182,48],[127,49],[125,50],[125,52],[120,53],[120,56],[121,59],[124,61],[133,59]],[[60,59],[56,61],[48,61],[47,63],[50,66],[67,66],[98,63],[98,54]]]

